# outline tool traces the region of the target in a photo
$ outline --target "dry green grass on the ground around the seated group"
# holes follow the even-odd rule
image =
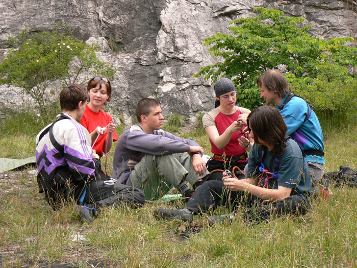
[[[321,124],[325,172],[336,171],[340,165],[357,169],[355,125],[340,128],[324,120]],[[6,135],[1,138],[0,157],[34,155],[40,125],[32,124],[33,130],[23,127],[15,134],[10,127],[4,131],[2,125]],[[118,135],[124,129],[118,126]],[[194,138],[209,153],[210,142],[200,126],[177,135]],[[110,174],[114,148],[115,144],[107,159]],[[103,166],[104,162],[105,157]],[[182,206],[180,201],[148,202],[136,210],[106,208],[93,224],[86,224],[71,204],[58,211],[50,209],[38,193],[36,176],[28,171],[0,174],[0,266],[357,266],[357,188],[333,187],[330,199],[315,200],[307,215],[259,225],[245,224],[240,211],[231,225],[209,227],[207,215],[195,216],[196,229],[179,221],[157,221],[152,215],[157,207]],[[214,214],[227,212],[220,208]],[[77,234],[86,240],[72,241]]]

